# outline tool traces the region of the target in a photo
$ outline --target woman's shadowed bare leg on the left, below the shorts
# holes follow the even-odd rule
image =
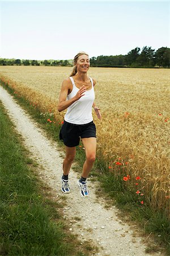
[[[73,163],[74,156],[76,152],[76,147],[67,147],[66,146],[66,156],[63,160],[63,175],[68,175],[71,164]]]

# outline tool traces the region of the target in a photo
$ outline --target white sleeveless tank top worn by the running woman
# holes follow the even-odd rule
[[[78,92],[79,88],[75,86],[75,82],[73,77],[69,77],[72,84],[73,90],[69,95],[67,95],[67,100],[73,98]],[[85,125],[86,123],[90,123],[93,121],[92,117],[92,105],[95,100],[95,92],[94,92],[94,83],[91,79],[92,87],[90,90],[86,90],[85,95],[79,98],[79,100],[75,101],[67,108],[67,112],[65,114],[65,121],[69,123],[74,123],[75,125]]]

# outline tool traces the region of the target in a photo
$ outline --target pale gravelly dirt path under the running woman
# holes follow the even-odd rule
[[[63,159],[57,150],[57,143],[46,138],[44,131],[37,127],[32,118],[1,86],[0,100],[16,130],[22,135],[32,158],[44,167],[39,174],[40,178],[49,185],[54,195],[62,195],[60,179]],[[118,210],[115,207],[105,209],[104,199],[99,199],[95,194],[94,187],[99,185],[96,181],[88,180],[90,196],[82,198],[76,184],[77,174],[71,171],[69,177],[71,193],[64,199],[66,206],[63,208],[63,218],[69,220],[70,231],[78,234],[82,243],[91,241],[99,247],[99,251],[94,251],[92,255],[150,255],[145,253],[142,238],[137,237],[129,225],[118,220]]]

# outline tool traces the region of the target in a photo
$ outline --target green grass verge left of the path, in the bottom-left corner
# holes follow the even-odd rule
[[[61,221],[61,206],[43,192],[2,104],[0,126],[0,255],[85,255]]]

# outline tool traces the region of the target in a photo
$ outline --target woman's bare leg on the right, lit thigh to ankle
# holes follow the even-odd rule
[[[96,138],[82,138],[82,142],[86,152],[86,161],[83,165],[82,177],[87,178],[96,159]]]

